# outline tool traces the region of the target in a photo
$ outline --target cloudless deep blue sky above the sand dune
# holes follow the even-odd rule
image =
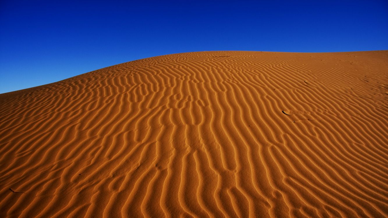
[[[387,49],[387,0],[0,0],[0,93],[171,53]]]

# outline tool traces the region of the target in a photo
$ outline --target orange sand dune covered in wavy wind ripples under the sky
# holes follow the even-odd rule
[[[386,217],[387,72],[205,51],[0,94],[0,217]]]

